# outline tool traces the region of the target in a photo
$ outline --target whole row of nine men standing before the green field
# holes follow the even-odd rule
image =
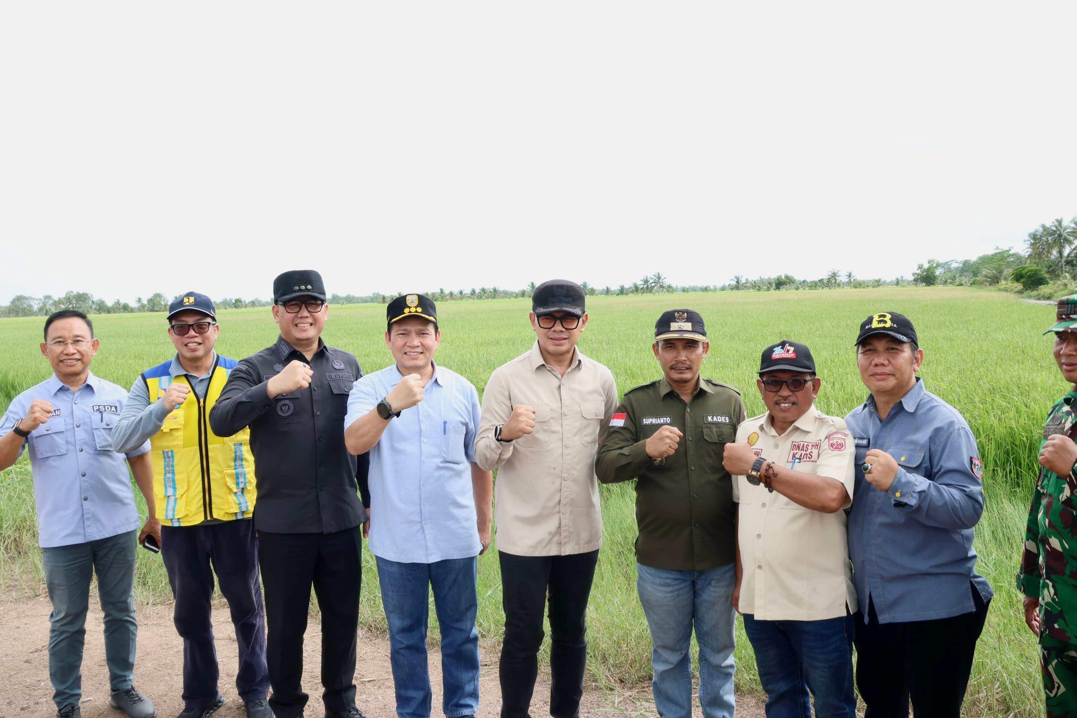
[[[473,716],[477,557],[491,543],[494,505],[501,715],[529,715],[548,611],[550,714],[575,718],[601,547],[598,483],[629,480],[637,587],[663,718],[691,714],[693,632],[703,715],[732,717],[738,613],[768,716],[811,715],[814,701],[816,716],[852,717],[854,684],[867,716],[907,716],[910,702],[918,717],[960,715],[992,597],[973,549],[982,463],[965,420],[917,376],[923,350],[908,318],[880,312],[861,324],[854,346],[869,396],[847,417],[815,407],[823,380],[814,357],[782,339],[760,356],[767,411],[746,418],[736,389],[701,377],[710,344],[703,318],[688,309],[656,322],[661,378],[618,403],[611,371],[577,348],[588,322],[583,288],[545,282],[528,316],[534,344],[493,372],[480,405],[474,385],[435,362],[442,330],[428,297],[389,302],[384,340],[394,362],[365,376],[352,354],[321,340],[328,305],[318,272],[281,274],[274,300],[279,338],[237,362],[213,349],[212,302],[182,295],[168,314],[173,358],[143,371],[130,392],[89,372],[98,340],[88,319],[60,312],[46,321],[41,348],[54,377],[9,407],[0,467],[29,444],[61,718],[79,715],[94,572],[113,705],[132,718],[154,714],[132,686],[136,534],[159,547],[176,596],[182,718],[205,718],[223,703],[210,624],[214,574],[236,629],[236,688],[249,716],[304,713],[312,587],[325,715],[362,718],[353,675],[363,537],[377,561],[397,715],[431,713],[432,591],[443,709]],[[1055,355],[1077,382],[1067,327],[1057,329]],[[1074,423],[1063,405],[1048,423],[1059,431],[1045,437]],[[1033,513],[1044,506],[1048,523],[1058,522],[1052,497],[1069,496],[1058,477],[1077,462],[1075,447],[1045,439],[1043,503]],[[141,533],[124,454],[150,509]],[[1063,591],[1053,588],[1057,567],[1037,565],[1038,525],[1031,520],[1022,588],[1034,596],[1030,627],[1052,629],[1040,638],[1063,685],[1077,675],[1066,652],[1072,634],[1062,620],[1033,620]]]

